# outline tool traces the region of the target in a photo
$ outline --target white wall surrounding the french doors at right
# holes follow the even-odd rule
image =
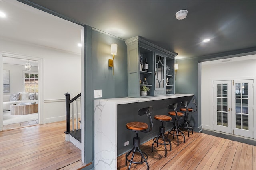
[[[236,61],[235,59],[242,59]],[[228,60],[228,59],[225,59]],[[212,64],[214,63],[214,64]],[[202,126],[204,129],[213,130],[213,116],[210,112],[212,103],[210,99],[212,80],[234,80],[236,78],[252,79],[256,77],[256,55],[236,57],[231,62],[202,62],[202,83],[201,83],[201,109]],[[255,81],[255,80],[254,80]],[[255,84],[255,82],[254,82]],[[255,85],[254,85],[255,86]],[[256,92],[254,88],[254,104]],[[254,109],[254,128],[256,127],[256,115]]]

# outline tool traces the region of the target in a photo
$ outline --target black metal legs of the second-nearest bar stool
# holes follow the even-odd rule
[[[165,148],[165,157],[167,156],[167,148],[166,148],[166,145],[169,145],[170,144],[170,150],[172,150],[172,145],[171,145],[171,141],[170,141],[170,139],[168,139],[168,137],[166,137],[166,135],[164,134],[165,133],[165,127],[163,126],[163,122],[162,122],[162,126],[160,126],[159,127],[159,135],[157,136],[157,137],[154,137],[154,139],[153,139],[153,143],[152,143],[152,149],[151,149],[151,151],[153,152],[153,145],[154,145],[154,143],[156,143],[157,145],[157,147],[158,147],[158,144],[159,145],[164,145],[164,148]],[[159,143],[158,142],[158,140],[159,140],[159,138],[160,137],[162,137],[162,139],[163,139],[163,142],[164,143]],[[165,142],[165,140],[167,141],[167,143]]]

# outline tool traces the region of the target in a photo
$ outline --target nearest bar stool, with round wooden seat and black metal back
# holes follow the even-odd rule
[[[153,112],[153,108],[152,106],[151,107],[145,107],[145,108],[142,108],[142,109],[139,109],[138,110],[138,115],[142,116],[142,115],[147,115],[148,116],[148,120],[149,120],[149,124],[150,124],[150,127],[149,127],[149,130],[146,130],[148,129],[148,124],[147,123],[144,123],[144,122],[130,122],[130,123],[127,123],[126,124],[126,128],[131,130],[131,131],[134,131],[136,132],[136,137],[133,138],[133,148],[132,150],[130,150],[130,152],[128,152],[126,155],[125,155],[125,166],[127,166],[127,161],[130,162],[129,164],[129,170],[131,168],[131,164],[134,163],[134,164],[142,164],[143,162],[146,163],[147,165],[147,169],[149,170],[149,166],[148,166],[148,155],[145,153],[145,152],[142,152],[140,150],[140,137],[138,137],[138,132],[144,132],[144,133],[147,133],[147,132],[150,132],[152,130],[152,127],[153,127],[153,122],[152,122],[152,118],[150,116],[150,114]],[[133,153],[132,153],[133,152]],[[140,162],[135,162],[133,161],[133,158],[134,158],[134,154],[135,152],[140,152],[140,155],[141,155],[141,161]],[[132,153],[132,158],[131,159],[128,159],[128,156]],[[145,158],[146,157],[146,158]]]

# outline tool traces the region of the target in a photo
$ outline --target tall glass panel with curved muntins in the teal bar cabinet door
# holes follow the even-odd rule
[[[164,90],[164,57],[155,55],[155,90]]]

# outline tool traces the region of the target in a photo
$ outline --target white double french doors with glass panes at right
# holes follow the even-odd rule
[[[213,81],[214,130],[253,138],[253,80]]]

